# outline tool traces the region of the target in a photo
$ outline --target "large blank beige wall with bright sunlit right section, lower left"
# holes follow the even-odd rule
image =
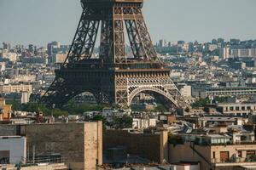
[[[0,136],[24,135],[28,154],[60,153],[73,170],[102,165],[102,122],[0,125]]]

